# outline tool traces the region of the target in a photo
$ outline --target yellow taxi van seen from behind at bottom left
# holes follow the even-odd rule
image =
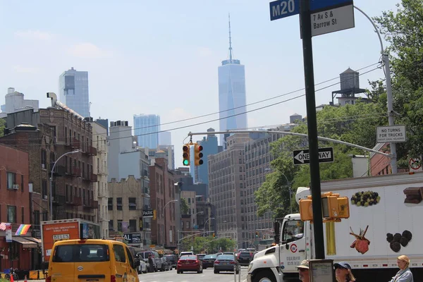
[[[46,282],[140,282],[140,260],[115,240],[57,241],[51,254]]]

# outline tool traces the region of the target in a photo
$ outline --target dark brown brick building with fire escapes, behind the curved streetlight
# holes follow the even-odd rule
[[[49,204],[49,174],[55,164],[51,199],[53,211],[49,212],[48,219],[52,216],[53,219],[80,218],[94,221],[98,201],[94,200],[93,183],[97,182],[97,174],[93,171],[92,160],[97,155],[97,149],[92,147],[90,123],[74,111],[52,107],[39,111],[19,111],[8,114],[6,118],[7,128],[16,128],[24,123],[37,128],[41,137],[38,146],[28,147],[28,150],[35,151],[31,153],[35,156],[33,168],[36,168],[35,171],[41,168],[41,172],[32,177],[35,192],[39,192],[41,200],[36,202],[35,196],[32,206],[44,210],[46,204]],[[11,136],[4,138],[13,139]],[[39,140],[31,137],[31,142],[32,139]],[[75,150],[79,152],[74,153]],[[38,164],[37,154],[40,156]],[[37,220],[34,219],[35,222]]]

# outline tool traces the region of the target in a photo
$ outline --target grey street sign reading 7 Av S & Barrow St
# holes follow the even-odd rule
[[[312,36],[354,27],[354,6],[341,6],[312,13]]]

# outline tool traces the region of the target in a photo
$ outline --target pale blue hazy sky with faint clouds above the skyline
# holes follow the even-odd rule
[[[328,1],[328,0],[321,0]],[[396,11],[400,0],[356,0],[368,16]],[[59,94],[59,75],[88,71],[91,116],[129,121],[134,114],[159,114],[162,130],[172,131],[176,166],[188,133],[219,130],[217,68],[228,59],[228,13],[234,59],[245,65],[247,104],[304,88],[300,20],[270,20],[269,1],[6,1],[0,0],[0,104],[8,87],[50,106],[46,92]],[[372,23],[355,10],[355,27],[313,37],[314,80],[339,82],[348,67],[357,70],[380,59]],[[386,46],[386,42],[384,42]],[[364,68],[360,87],[384,77]],[[339,85],[316,92],[316,104],[328,104]],[[3,94],[1,94],[3,93]],[[306,116],[303,91],[247,110],[249,128],[289,123]],[[215,120],[215,121],[213,121]],[[212,122],[209,122],[212,121]],[[203,123],[202,125],[193,125]],[[201,140],[194,137],[193,141]],[[187,140],[185,140],[186,142]]]

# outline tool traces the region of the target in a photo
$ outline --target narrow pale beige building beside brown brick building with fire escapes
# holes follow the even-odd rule
[[[109,189],[107,187],[107,130],[103,125],[90,122],[92,126],[92,147],[97,149],[97,156],[92,164],[93,172],[97,174],[97,182],[94,182],[94,200],[99,202],[96,214],[96,222],[100,223],[103,238],[109,238],[109,212],[107,211],[107,199]]]

